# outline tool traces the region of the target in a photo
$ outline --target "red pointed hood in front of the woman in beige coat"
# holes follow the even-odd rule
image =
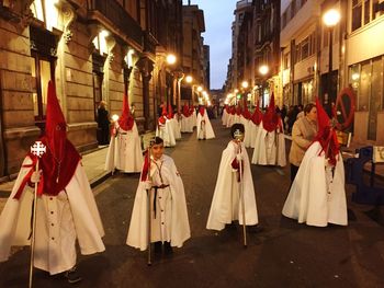
[[[316,99],[316,110],[318,133],[315,141],[319,141],[321,145],[323,151],[326,153],[326,158],[329,159],[329,163],[336,165],[336,158],[340,151],[336,130],[318,99]]]

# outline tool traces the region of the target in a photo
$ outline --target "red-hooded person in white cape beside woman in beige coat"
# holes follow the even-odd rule
[[[318,133],[292,183],[282,214],[300,223],[347,226],[345,168],[335,128],[316,100]]]

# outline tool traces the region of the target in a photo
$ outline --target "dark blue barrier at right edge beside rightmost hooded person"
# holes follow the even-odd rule
[[[355,193],[352,200],[359,204],[384,205],[384,188],[374,185],[375,169],[377,159],[373,161],[374,147],[368,146],[357,150],[357,158],[346,160],[346,181],[355,185]],[[364,166],[371,162],[370,184],[366,185],[364,177]]]

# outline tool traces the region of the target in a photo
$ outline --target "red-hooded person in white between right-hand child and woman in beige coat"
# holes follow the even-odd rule
[[[278,166],[286,164],[283,122],[275,111],[273,93],[256,136],[252,164]]]

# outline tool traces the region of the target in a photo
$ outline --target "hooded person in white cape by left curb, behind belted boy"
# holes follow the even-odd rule
[[[129,111],[128,96],[124,94],[122,115],[114,122],[112,130],[105,170],[114,172],[117,169],[125,173],[135,173],[140,172],[142,165],[142,141]]]

